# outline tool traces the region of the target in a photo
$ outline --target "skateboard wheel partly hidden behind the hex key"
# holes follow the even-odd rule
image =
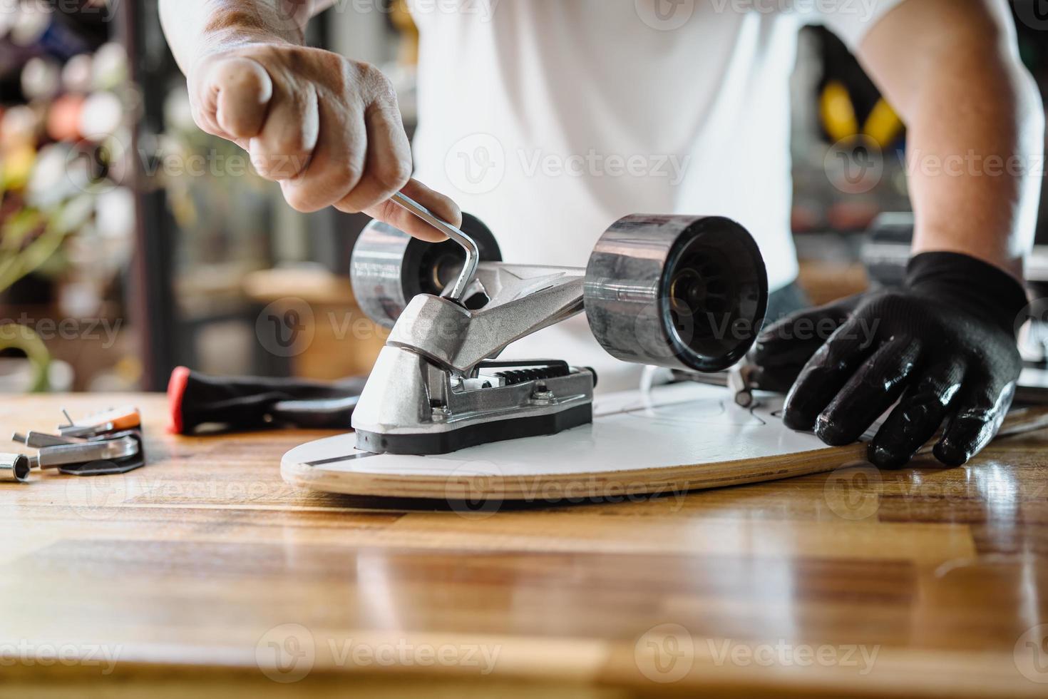
[[[480,219],[462,214],[461,231],[476,241],[481,262],[502,261],[495,236]],[[439,296],[464,261],[465,252],[454,241],[428,243],[389,223],[371,221],[353,246],[349,277],[361,310],[392,328],[409,301],[419,293]]]

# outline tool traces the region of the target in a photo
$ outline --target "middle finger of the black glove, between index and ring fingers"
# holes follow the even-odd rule
[[[881,345],[815,418],[815,436],[831,446],[861,437],[902,395],[918,356],[920,343],[911,337]]]

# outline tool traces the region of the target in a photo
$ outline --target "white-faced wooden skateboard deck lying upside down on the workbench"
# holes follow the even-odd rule
[[[743,409],[723,388],[676,384],[597,396],[592,424],[439,456],[361,452],[352,433],[320,439],[285,454],[281,473],[297,486],[356,496],[571,501],[755,483],[865,462],[863,443],[828,447],[787,429],[782,401],[761,395],[757,407]],[[1010,431],[1046,422],[1044,411],[1033,418],[1009,416]],[[1002,432],[1008,431],[1006,423]]]

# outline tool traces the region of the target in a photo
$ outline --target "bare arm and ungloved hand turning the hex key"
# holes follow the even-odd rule
[[[397,191],[458,225],[447,197],[411,179],[396,93],[374,66],[303,45],[323,0],[160,0],[160,19],[204,131],[248,151],[299,211],[364,212],[424,240]]]

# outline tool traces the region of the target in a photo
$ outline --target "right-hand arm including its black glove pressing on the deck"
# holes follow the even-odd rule
[[[1014,396],[1044,138],[1014,44],[1004,0],[905,0],[867,32],[859,59],[909,127],[914,257],[897,288],[788,316],[754,351],[764,388],[791,385],[793,429],[846,444],[888,413],[868,449],[880,467],[940,428],[936,458],[965,463]],[[799,331],[812,323],[832,332]]]

